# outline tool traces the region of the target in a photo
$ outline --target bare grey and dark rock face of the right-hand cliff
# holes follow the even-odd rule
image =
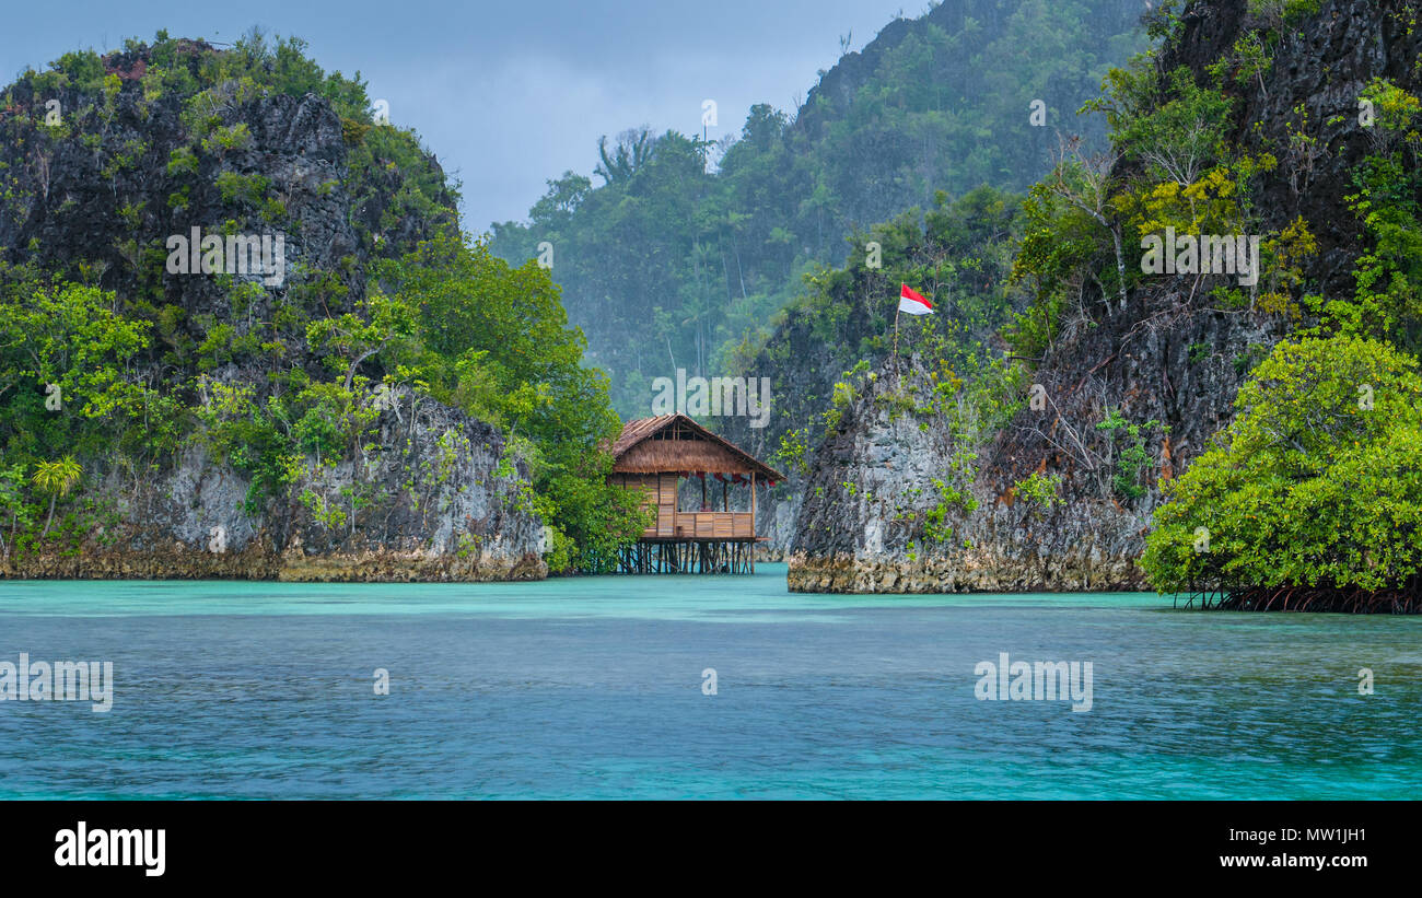
[[[1230,87],[1236,104],[1226,139],[1280,162],[1256,195],[1260,229],[1278,232],[1295,216],[1307,222],[1318,251],[1303,280],[1321,294],[1352,291],[1365,237],[1345,196],[1355,192],[1352,171],[1372,139],[1358,101],[1372,78],[1416,92],[1422,33],[1415,17],[1409,3],[1324,0],[1277,30],[1273,65],[1257,82]],[[1243,3],[1189,3],[1159,51],[1158,71],[1163,78],[1183,65],[1204,84],[1207,67],[1257,26]],[[1221,308],[1207,301],[1210,286],[1186,276],[1146,278],[1123,304],[1096,294],[1081,320],[1065,321],[1022,385],[1039,385],[1037,408],[1024,402],[971,448],[977,465],[968,499],[947,503],[931,534],[924,512],[944,504],[930,493],[947,476],[941,459],[954,448],[943,421],[894,416],[884,396],[889,369],[876,362],[877,378],[813,453],[791,547],[791,587],[1146,588],[1138,558],[1160,483],[1229,423],[1250,368],[1294,325],[1257,305]],[[906,378],[929,388],[923,371]],[[1098,426],[1108,408],[1133,422],[1160,422],[1145,431],[1149,462],[1135,499],[1111,486],[1121,445],[1119,433]],[[1034,472],[1061,479],[1059,503],[1021,500],[1017,485]],[[916,519],[896,520],[899,506],[917,506]]]

